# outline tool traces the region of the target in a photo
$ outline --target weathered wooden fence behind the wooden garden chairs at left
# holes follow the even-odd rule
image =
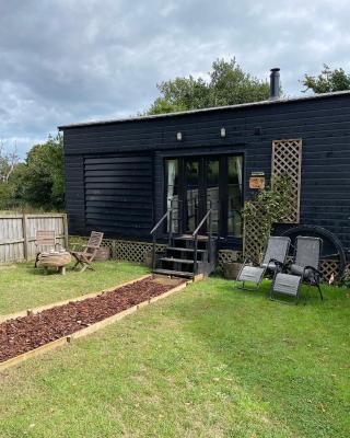
[[[34,260],[40,250],[35,245],[37,230],[55,230],[57,241],[67,247],[66,215],[0,216],[0,263]]]

